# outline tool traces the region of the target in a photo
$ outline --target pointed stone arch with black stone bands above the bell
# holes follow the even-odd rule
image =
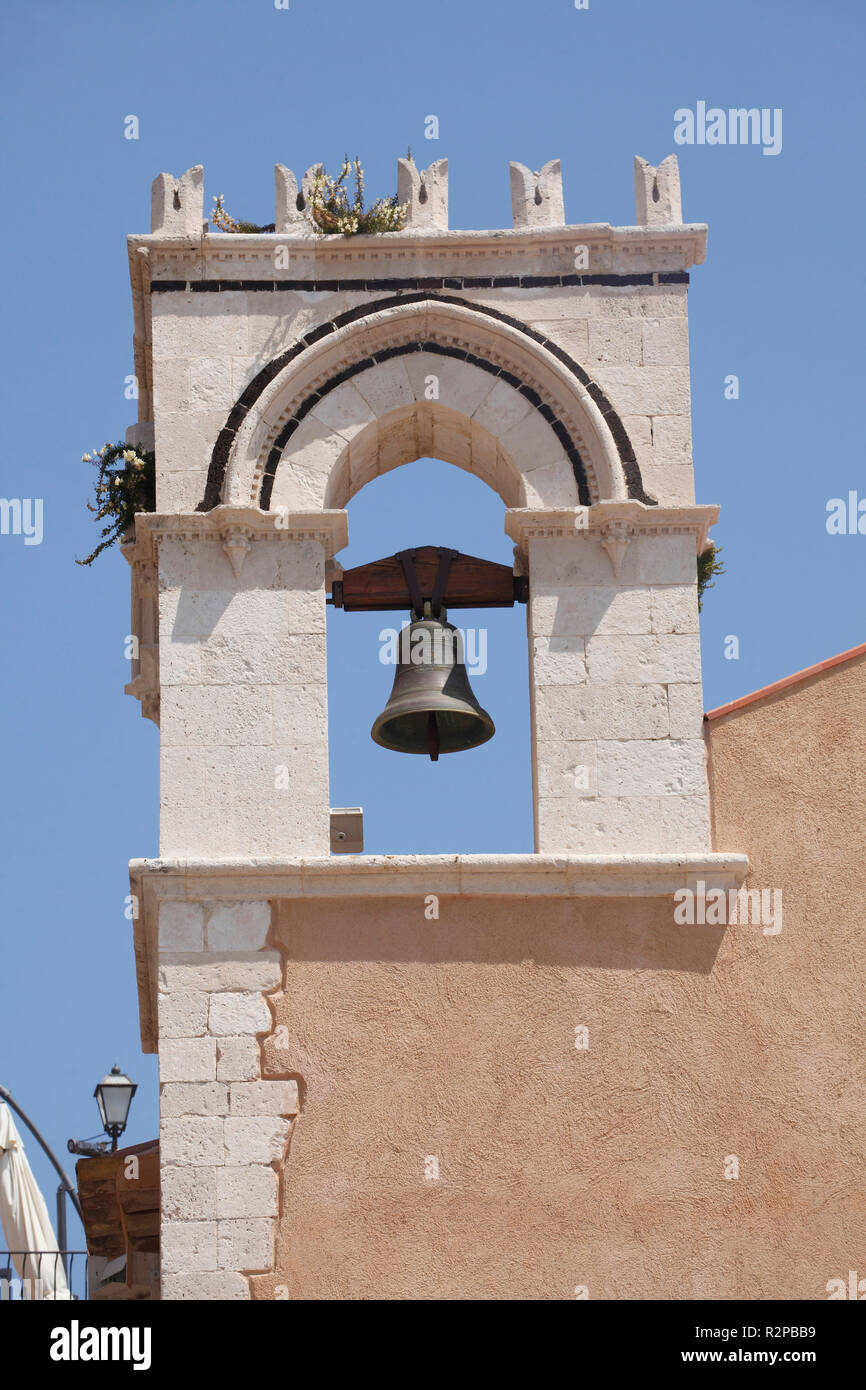
[[[349,310],[268,363],[220,432],[200,510],[345,506],[359,486],[435,453],[506,505],[646,496],[601,388],[518,320],[452,296]]]

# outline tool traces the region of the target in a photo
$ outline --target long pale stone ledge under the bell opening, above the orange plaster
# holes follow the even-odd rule
[[[142,1047],[157,1048],[157,917],[167,901],[441,897],[659,898],[699,880],[738,888],[748,855],[335,855],[328,859],[133,859],[129,885]]]

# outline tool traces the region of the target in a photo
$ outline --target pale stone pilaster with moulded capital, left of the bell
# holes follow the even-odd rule
[[[327,855],[325,563],[345,513],[136,524],[133,578],[158,556],[161,852]]]

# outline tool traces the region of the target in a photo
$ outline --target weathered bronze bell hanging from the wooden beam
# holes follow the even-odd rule
[[[425,617],[400,632],[400,660],[385,709],[370,730],[398,753],[459,753],[496,733],[466,674],[456,627]]]

